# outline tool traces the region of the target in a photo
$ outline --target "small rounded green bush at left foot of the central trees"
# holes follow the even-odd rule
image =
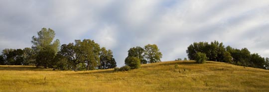
[[[136,57],[127,57],[125,59],[125,64],[130,66],[131,69],[138,69],[140,68],[140,60]]]

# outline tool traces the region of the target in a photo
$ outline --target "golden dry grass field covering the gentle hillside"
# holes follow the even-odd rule
[[[227,63],[170,61],[113,71],[0,66],[0,92],[269,92],[269,70]]]

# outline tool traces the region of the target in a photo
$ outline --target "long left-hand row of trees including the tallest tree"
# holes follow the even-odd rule
[[[0,65],[35,65],[36,67],[60,70],[96,70],[117,66],[113,52],[100,48],[93,40],[75,40],[74,43],[60,46],[54,40],[52,29],[42,28],[38,36],[32,37],[32,48],[4,49],[0,55]]]

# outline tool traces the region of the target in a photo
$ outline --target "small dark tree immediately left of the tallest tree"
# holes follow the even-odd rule
[[[34,58],[34,51],[31,48],[24,48],[23,49],[23,62],[22,65],[34,65],[35,58]]]

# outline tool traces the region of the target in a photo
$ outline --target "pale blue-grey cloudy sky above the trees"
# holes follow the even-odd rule
[[[61,44],[94,40],[118,66],[146,44],[158,46],[161,61],[214,40],[269,57],[269,0],[0,0],[0,51],[31,47],[43,27]]]

